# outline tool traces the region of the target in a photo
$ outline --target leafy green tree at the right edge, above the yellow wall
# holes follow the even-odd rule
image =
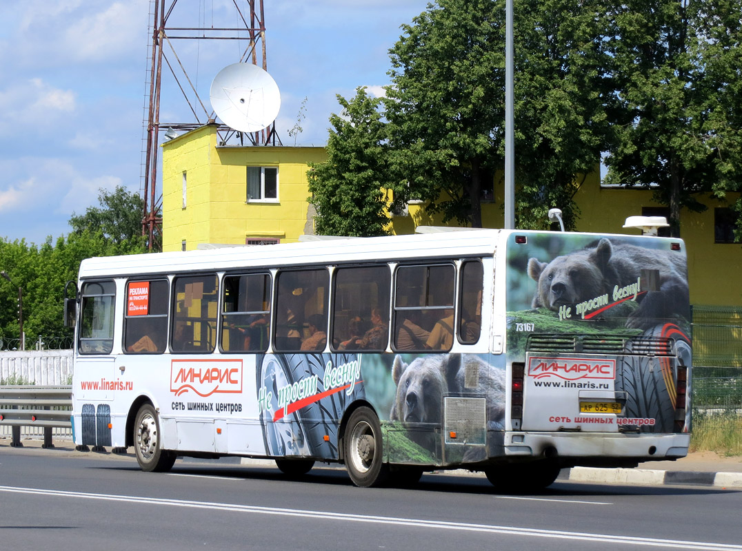
[[[739,0],[630,0],[611,14],[621,110],[607,180],[652,188],[674,236],[683,208],[706,209],[700,193],[740,188],[741,10]]]

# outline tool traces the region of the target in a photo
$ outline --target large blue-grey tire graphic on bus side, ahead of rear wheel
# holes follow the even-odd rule
[[[317,392],[324,392],[327,390],[323,386],[327,364],[337,366],[355,358],[355,354],[265,354],[257,358],[260,364],[258,392],[265,388],[271,396],[266,404],[267,411],[260,412],[268,455],[338,458],[340,420],[347,404],[364,396],[362,385],[356,385],[350,396],[346,392],[335,392],[276,420],[274,417],[283,409],[278,403],[279,389],[316,376]]]

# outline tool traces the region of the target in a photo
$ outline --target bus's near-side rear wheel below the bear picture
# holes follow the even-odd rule
[[[375,413],[361,406],[350,415],[343,438],[345,467],[356,486],[369,488],[387,481],[381,424]]]

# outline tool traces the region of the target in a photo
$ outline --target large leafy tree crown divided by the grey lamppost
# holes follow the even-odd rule
[[[608,140],[605,8],[520,0],[514,13],[517,225],[545,227],[559,207],[574,228],[574,182]],[[402,28],[386,101],[394,165],[427,210],[480,227],[482,186],[504,165],[505,2],[439,0]]]

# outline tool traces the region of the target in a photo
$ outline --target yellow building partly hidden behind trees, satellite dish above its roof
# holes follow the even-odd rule
[[[306,171],[324,162],[322,147],[234,147],[217,145],[216,125],[206,125],[162,145],[162,248],[180,251],[199,245],[294,242],[312,234]],[[652,192],[600,185],[598,171],[585,178],[575,199],[578,230],[640,234],[625,229],[626,217],[666,215]],[[482,203],[483,225],[502,227],[502,185]],[[736,195],[730,201],[736,199]],[[683,211],[680,237],[688,249],[694,304],[742,306],[742,246],[730,242],[728,205],[707,195],[708,209]],[[392,217],[393,231],[412,233],[418,225],[440,225],[421,205]]]

